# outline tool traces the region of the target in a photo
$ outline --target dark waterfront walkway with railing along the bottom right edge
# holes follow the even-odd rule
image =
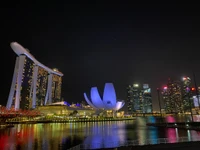
[[[172,142],[173,141],[173,142]],[[119,147],[114,147],[115,143],[110,143],[110,148],[102,148],[103,150],[154,150],[154,149],[170,149],[170,150],[199,150],[200,138],[188,139],[188,137],[179,137],[175,139],[171,138],[159,138],[159,139],[147,139],[143,143],[139,140],[127,141]],[[68,150],[89,150],[95,149],[97,144],[77,145]],[[99,148],[96,148],[99,149]]]

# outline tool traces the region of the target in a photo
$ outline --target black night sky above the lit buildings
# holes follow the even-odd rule
[[[197,4],[12,3],[1,7],[1,63],[6,105],[16,54],[10,42],[63,72],[62,97],[84,101],[92,86],[114,83],[126,100],[126,87],[148,83],[153,108],[156,88],[169,77],[196,74],[200,83],[200,12]],[[5,59],[5,60],[4,60]]]

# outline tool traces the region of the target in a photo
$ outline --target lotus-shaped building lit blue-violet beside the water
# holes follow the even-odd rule
[[[124,106],[124,101],[117,101],[115,88],[112,83],[106,83],[103,98],[100,97],[97,87],[92,87],[90,91],[91,100],[84,93],[85,100],[94,109],[119,110]]]

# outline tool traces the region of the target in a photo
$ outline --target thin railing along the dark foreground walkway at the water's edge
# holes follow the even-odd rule
[[[91,144],[80,144],[72,147],[68,150],[81,150],[81,149],[100,149],[100,148],[117,148],[122,146],[142,146],[142,145],[156,145],[156,144],[169,144],[169,143],[181,143],[181,142],[195,142],[200,141],[198,137],[179,137],[179,138],[158,138],[158,139],[146,139],[146,140],[132,140],[126,142],[109,142],[103,143],[91,143]]]

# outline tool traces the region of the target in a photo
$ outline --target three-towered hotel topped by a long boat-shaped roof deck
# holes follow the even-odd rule
[[[17,57],[6,108],[34,109],[61,101],[63,74],[40,63],[17,42],[10,46]]]

